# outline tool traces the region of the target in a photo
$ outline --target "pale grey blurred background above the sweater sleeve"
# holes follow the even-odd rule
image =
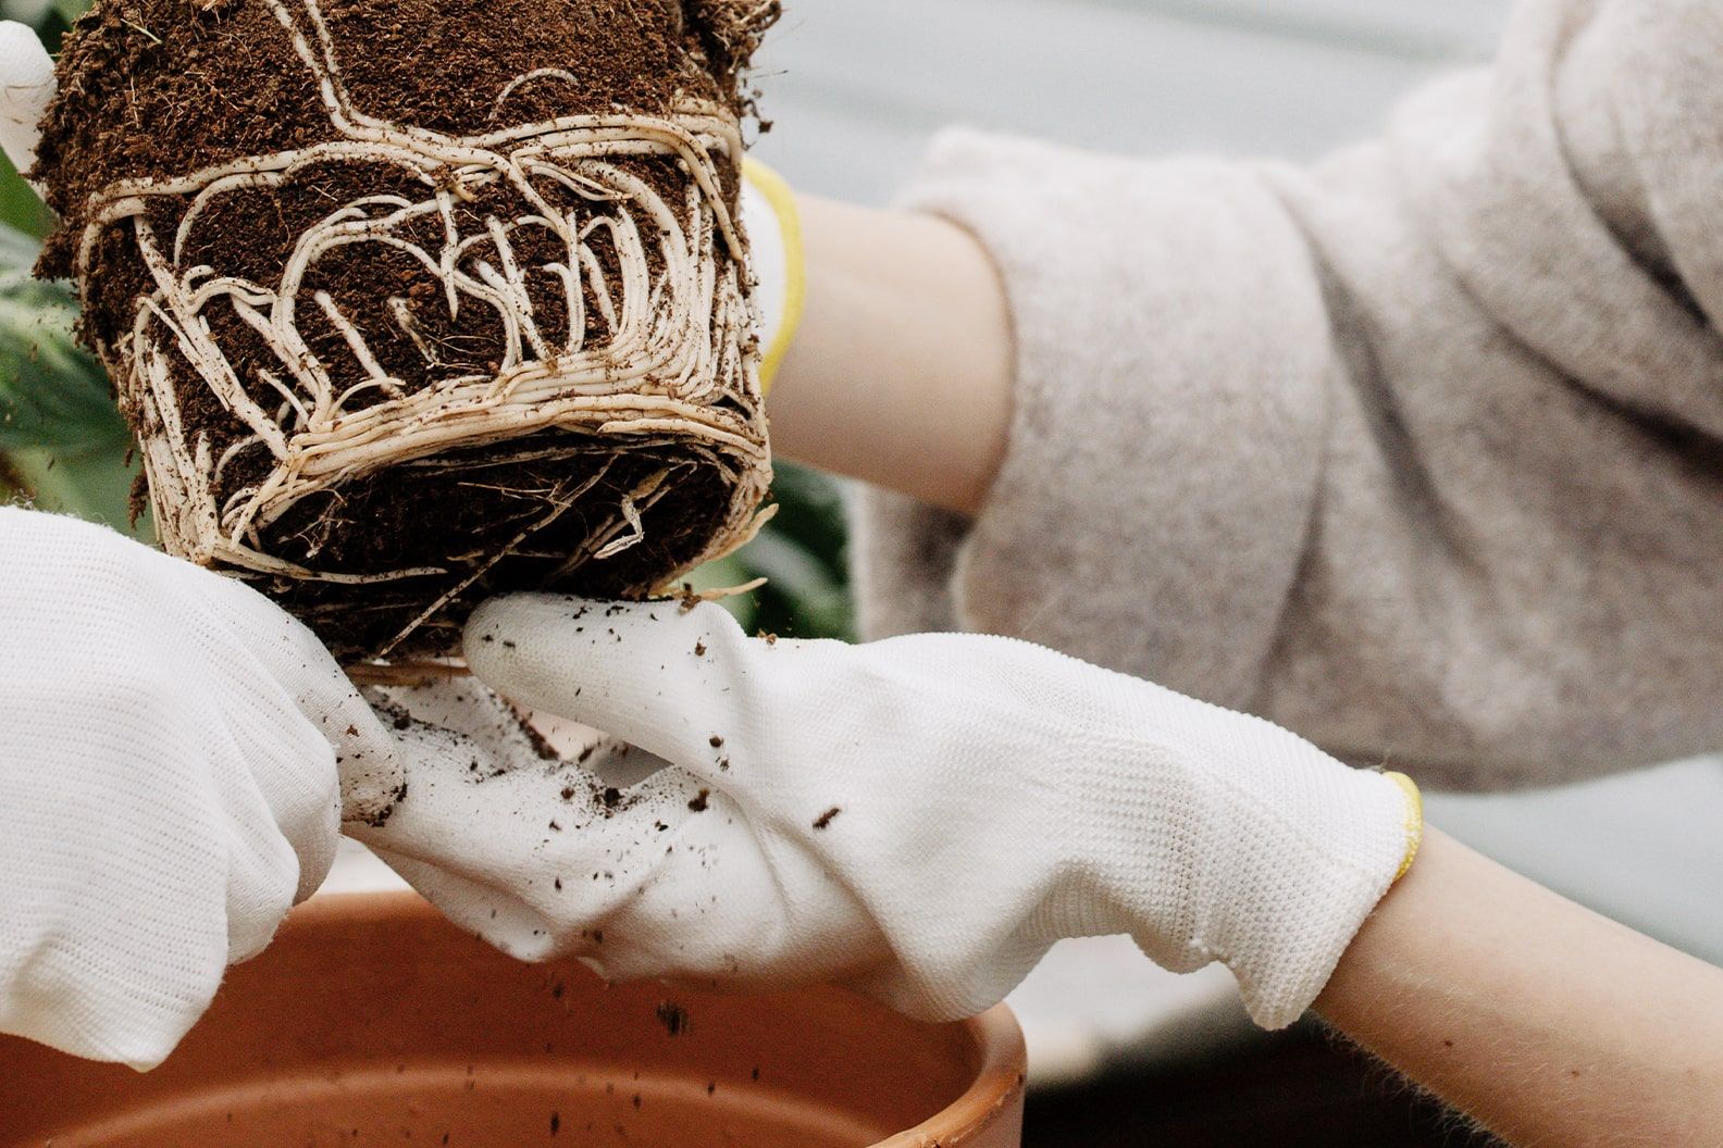
[[[786,0],[758,153],[884,201],[944,124],[1108,151],[1313,158],[1494,50],[1506,0]]]

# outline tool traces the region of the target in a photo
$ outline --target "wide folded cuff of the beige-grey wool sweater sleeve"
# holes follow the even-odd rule
[[[858,497],[867,628],[948,618],[1249,702],[1337,370],[1320,277],[1261,170],[951,131],[901,203],[998,263],[1017,406],[972,523]]]

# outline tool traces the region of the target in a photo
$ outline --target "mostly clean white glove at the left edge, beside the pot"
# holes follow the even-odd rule
[[[119,534],[0,508],[0,1031],[159,1064],[324,880],[336,754],[393,740],[305,626]]]

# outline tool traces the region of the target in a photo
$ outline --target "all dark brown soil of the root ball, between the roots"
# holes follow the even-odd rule
[[[298,12],[296,5],[289,7]],[[453,134],[613,110],[663,115],[686,96],[741,115],[748,107],[741,71],[777,14],[756,0],[320,0],[320,10],[362,114]],[[574,74],[577,86],[527,83],[498,103],[510,81],[544,69]],[[339,139],[310,71],[264,0],[102,0],[67,36],[59,74],[60,95],[45,119],[36,167],[62,219],[43,251],[38,270],[45,275],[72,272],[90,196],[114,181],[179,177],[246,155]],[[624,158],[617,167],[667,201],[682,201],[687,176],[675,160]],[[734,207],[737,172],[720,177]],[[534,182],[534,189],[570,210],[582,203],[560,184]],[[383,164],[327,162],[281,188],[224,196],[200,217],[184,265],[207,263],[221,275],[272,284],[308,227],[343,203],[388,193],[419,200],[424,186]],[[503,181],[477,189],[457,208],[462,234],[482,234],[488,217],[520,217],[520,200]],[[171,238],[188,203],[159,200],[148,222]],[[414,234],[417,225],[426,234]],[[436,250],[441,227],[431,215],[401,234]],[[594,232],[589,246],[613,279],[619,260],[605,236]],[[567,258],[548,231],[520,229],[512,239],[524,267]],[[481,256],[495,260],[482,244],[474,258]],[[648,258],[660,270],[655,244]],[[718,258],[729,258],[722,244]],[[115,377],[126,370],[119,348],[136,299],[150,287],[133,224],[109,227],[90,262],[83,334]],[[591,284],[584,289],[586,332],[601,341],[598,296]],[[296,308],[300,336],[338,384],[365,373],[341,330],[310,303],[317,291],[365,332],[377,361],[410,392],[498,370],[503,330],[493,308],[463,306],[450,318],[441,282],[412,255],[367,243],[320,258]],[[560,289],[532,281],[531,293],[548,330],[567,325]],[[419,341],[396,322],[389,299],[405,301]],[[246,392],[267,410],[279,406],[281,394],[260,375],[279,373],[274,353],[233,308],[212,306],[205,315]],[[429,361],[424,346],[432,348]],[[169,355],[186,437],[207,439],[221,458],[250,432],[177,349]],[[372,392],[357,404],[383,398]],[[140,410],[128,417],[141,432],[152,430],[141,425]],[[269,465],[267,451],[241,449],[222,472],[217,501],[255,484]],[[665,468],[669,492],[643,511],[644,540],[570,571],[569,556],[581,552],[593,528]],[[472,587],[395,651],[443,652],[470,608],[495,592],[639,596],[656,587],[708,546],[732,492],[722,470],[670,437],[619,451],[596,435],[539,432],[393,465],[338,494],[305,499],[260,539],[260,549],[276,558],[343,575],[448,573],[369,585],[286,578],[257,585],[305,618],[339,656],[360,659],[383,651],[482,566]],[[562,504],[567,509],[555,522],[531,530]],[[524,534],[529,540],[517,552],[488,565]]]

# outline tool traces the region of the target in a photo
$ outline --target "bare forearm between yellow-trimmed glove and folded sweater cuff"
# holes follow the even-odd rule
[[[775,449],[973,511],[1011,418],[1010,317],[986,250],[932,215],[799,208],[808,298],[772,391]]]

